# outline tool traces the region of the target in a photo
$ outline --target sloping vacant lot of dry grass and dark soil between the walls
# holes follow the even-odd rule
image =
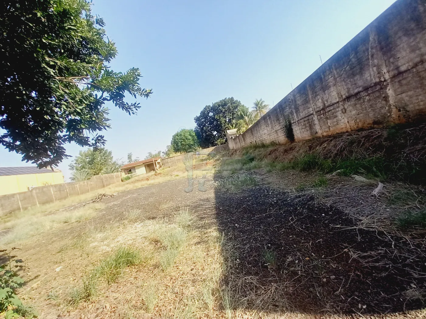
[[[423,233],[396,227],[407,199],[390,200],[407,185],[376,196],[377,181],[252,168],[207,175],[203,191],[176,179],[46,212],[26,236],[9,229],[0,240],[26,264],[18,295],[40,318],[426,315]]]

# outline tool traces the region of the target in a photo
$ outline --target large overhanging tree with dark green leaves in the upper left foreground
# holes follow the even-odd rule
[[[38,167],[57,166],[64,144],[102,147],[106,102],[135,114],[149,97],[138,68],[109,68],[117,55],[89,0],[5,0],[0,5],[0,144]],[[89,135],[93,138],[90,139]]]

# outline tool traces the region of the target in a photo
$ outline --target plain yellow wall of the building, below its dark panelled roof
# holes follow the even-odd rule
[[[63,183],[59,172],[0,176],[0,195],[28,191],[31,187]]]

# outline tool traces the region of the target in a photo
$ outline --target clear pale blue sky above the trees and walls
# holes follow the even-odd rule
[[[179,128],[225,97],[273,106],[394,0],[93,0],[115,41],[114,71],[141,69],[152,88],[137,116],[111,105],[106,147],[115,158],[164,150]],[[69,155],[82,148],[66,145]],[[70,177],[68,159],[59,165]],[[28,166],[0,149],[0,166]]]

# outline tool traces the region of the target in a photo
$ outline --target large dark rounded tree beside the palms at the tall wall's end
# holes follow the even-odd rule
[[[225,144],[226,131],[232,128],[242,105],[239,100],[227,97],[212,105],[206,105],[194,118],[195,134],[202,148]]]

